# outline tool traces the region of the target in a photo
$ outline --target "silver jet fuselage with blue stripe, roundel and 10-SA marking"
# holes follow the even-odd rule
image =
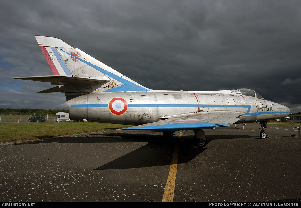
[[[126,101],[127,107],[120,106],[117,101],[115,104],[117,111],[110,110],[113,107],[109,103],[113,98],[123,99],[121,101]],[[121,101],[119,99],[120,103]],[[129,125],[215,112],[242,113],[236,123],[274,120],[289,114],[289,109],[281,104],[244,96],[237,90],[101,92],[81,95],[67,101],[67,104],[72,120],[86,119],[93,122]]]

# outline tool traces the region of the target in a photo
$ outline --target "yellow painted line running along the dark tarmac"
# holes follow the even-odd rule
[[[179,137],[182,136],[183,131],[180,132]],[[166,181],[166,186],[163,194],[162,201],[173,201],[173,196],[175,194],[175,178],[177,176],[178,168],[178,156],[179,156],[179,145],[175,147],[173,152],[171,165],[169,168],[169,174]]]

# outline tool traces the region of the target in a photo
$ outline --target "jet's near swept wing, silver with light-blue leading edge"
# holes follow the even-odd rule
[[[219,126],[230,126],[240,120],[241,113],[211,113],[197,116],[169,118],[154,123],[147,123],[122,130],[196,130]]]

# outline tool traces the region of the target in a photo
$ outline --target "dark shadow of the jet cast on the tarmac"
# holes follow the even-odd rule
[[[246,135],[208,135],[207,142],[216,139],[237,139],[237,138],[254,138]],[[175,136],[172,140],[165,139],[161,133],[140,134],[140,133],[111,133],[101,132],[92,133],[91,136],[60,136],[36,141],[31,143],[130,143],[130,142],[147,142],[146,145],[135,149],[111,162],[108,162],[94,170],[124,169],[124,168],[143,168],[162,165],[170,165],[176,146],[179,146],[178,163],[187,163],[200,155],[205,148],[197,148],[192,145],[192,135]],[[24,145],[28,143],[18,144]]]

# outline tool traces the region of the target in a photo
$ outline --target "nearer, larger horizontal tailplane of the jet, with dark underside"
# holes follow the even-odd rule
[[[76,85],[76,84],[93,84],[93,83],[106,83],[110,80],[91,79],[83,77],[70,77],[70,76],[33,76],[33,77],[16,77],[14,79],[25,79],[39,82],[51,82],[55,85]]]

